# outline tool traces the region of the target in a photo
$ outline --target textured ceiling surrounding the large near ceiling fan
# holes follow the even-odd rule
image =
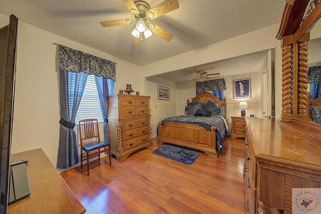
[[[153,8],[163,0],[146,2]],[[19,21],[143,66],[277,24],[285,3],[285,0],[179,0],[179,9],[153,20],[174,38],[166,42],[154,34],[143,39],[139,47],[133,47],[130,34],[133,24],[109,28],[99,24],[134,19],[120,0],[2,0],[0,13],[13,14]]]

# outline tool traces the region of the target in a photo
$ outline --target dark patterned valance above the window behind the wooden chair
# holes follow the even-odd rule
[[[84,52],[58,45],[59,69],[69,72],[105,77],[116,81],[116,63]]]

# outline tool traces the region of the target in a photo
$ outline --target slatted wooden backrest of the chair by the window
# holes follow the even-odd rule
[[[86,143],[100,141],[97,119],[79,120],[78,129],[81,146]]]

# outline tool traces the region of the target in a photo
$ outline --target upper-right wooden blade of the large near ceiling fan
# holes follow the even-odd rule
[[[124,0],[123,0],[124,1]],[[177,0],[166,0],[146,12],[146,17],[150,20],[174,11],[180,7]]]

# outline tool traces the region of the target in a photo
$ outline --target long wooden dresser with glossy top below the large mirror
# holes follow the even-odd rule
[[[292,213],[292,188],[321,188],[320,140],[277,120],[246,118],[245,148],[248,213]]]

